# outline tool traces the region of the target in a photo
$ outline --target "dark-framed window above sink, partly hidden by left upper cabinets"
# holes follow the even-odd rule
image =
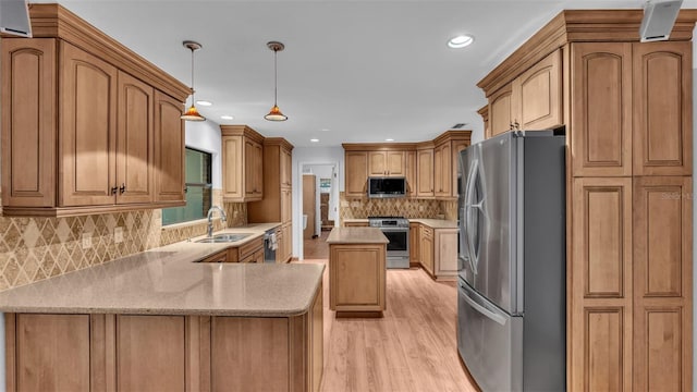
[[[162,209],[162,225],[206,218],[212,205],[211,155],[186,147],[186,206]]]

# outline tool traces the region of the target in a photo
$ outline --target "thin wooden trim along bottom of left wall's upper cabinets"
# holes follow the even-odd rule
[[[96,213],[136,211],[144,209],[158,209],[170,207],[185,206],[186,201],[173,203],[154,203],[154,204],[132,204],[132,205],[108,205],[108,206],[87,206],[87,207],[57,207],[57,208],[35,208],[35,207],[11,207],[2,208],[3,217],[44,217],[44,218],[64,218],[78,217]]]

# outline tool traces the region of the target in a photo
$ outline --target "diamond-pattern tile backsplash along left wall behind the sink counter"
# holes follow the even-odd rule
[[[213,205],[222,206],[228,226],[247,223],[244,203],[222,203],[213,189]],[[215,221],[215,230],[223,228]],[[123,242],[114,228],[123,228]],[[0,291],[88,268],[154,247],[206,234],[207,223],[162,228],[162,210],[139,210],[73,218],[0,217]],[[84,234],[91,246],[83,248]]]

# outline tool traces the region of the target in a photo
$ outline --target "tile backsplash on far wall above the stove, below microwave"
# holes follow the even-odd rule
[[[350,198],[344,193],[340,196],[341,219],[362,219],[371,216],[402,216],[405,218],[447,218],[441,200],[409,199],[409,198]],[[447,201],[450,203],[450,201]],[[455,204],[455,219],[457,219],[457,201]]]

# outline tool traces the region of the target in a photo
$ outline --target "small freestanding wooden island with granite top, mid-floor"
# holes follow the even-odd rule
[[[329,303],[337,317],[382,317],[388,238],[376,228],[334,228],[329,244]]]

